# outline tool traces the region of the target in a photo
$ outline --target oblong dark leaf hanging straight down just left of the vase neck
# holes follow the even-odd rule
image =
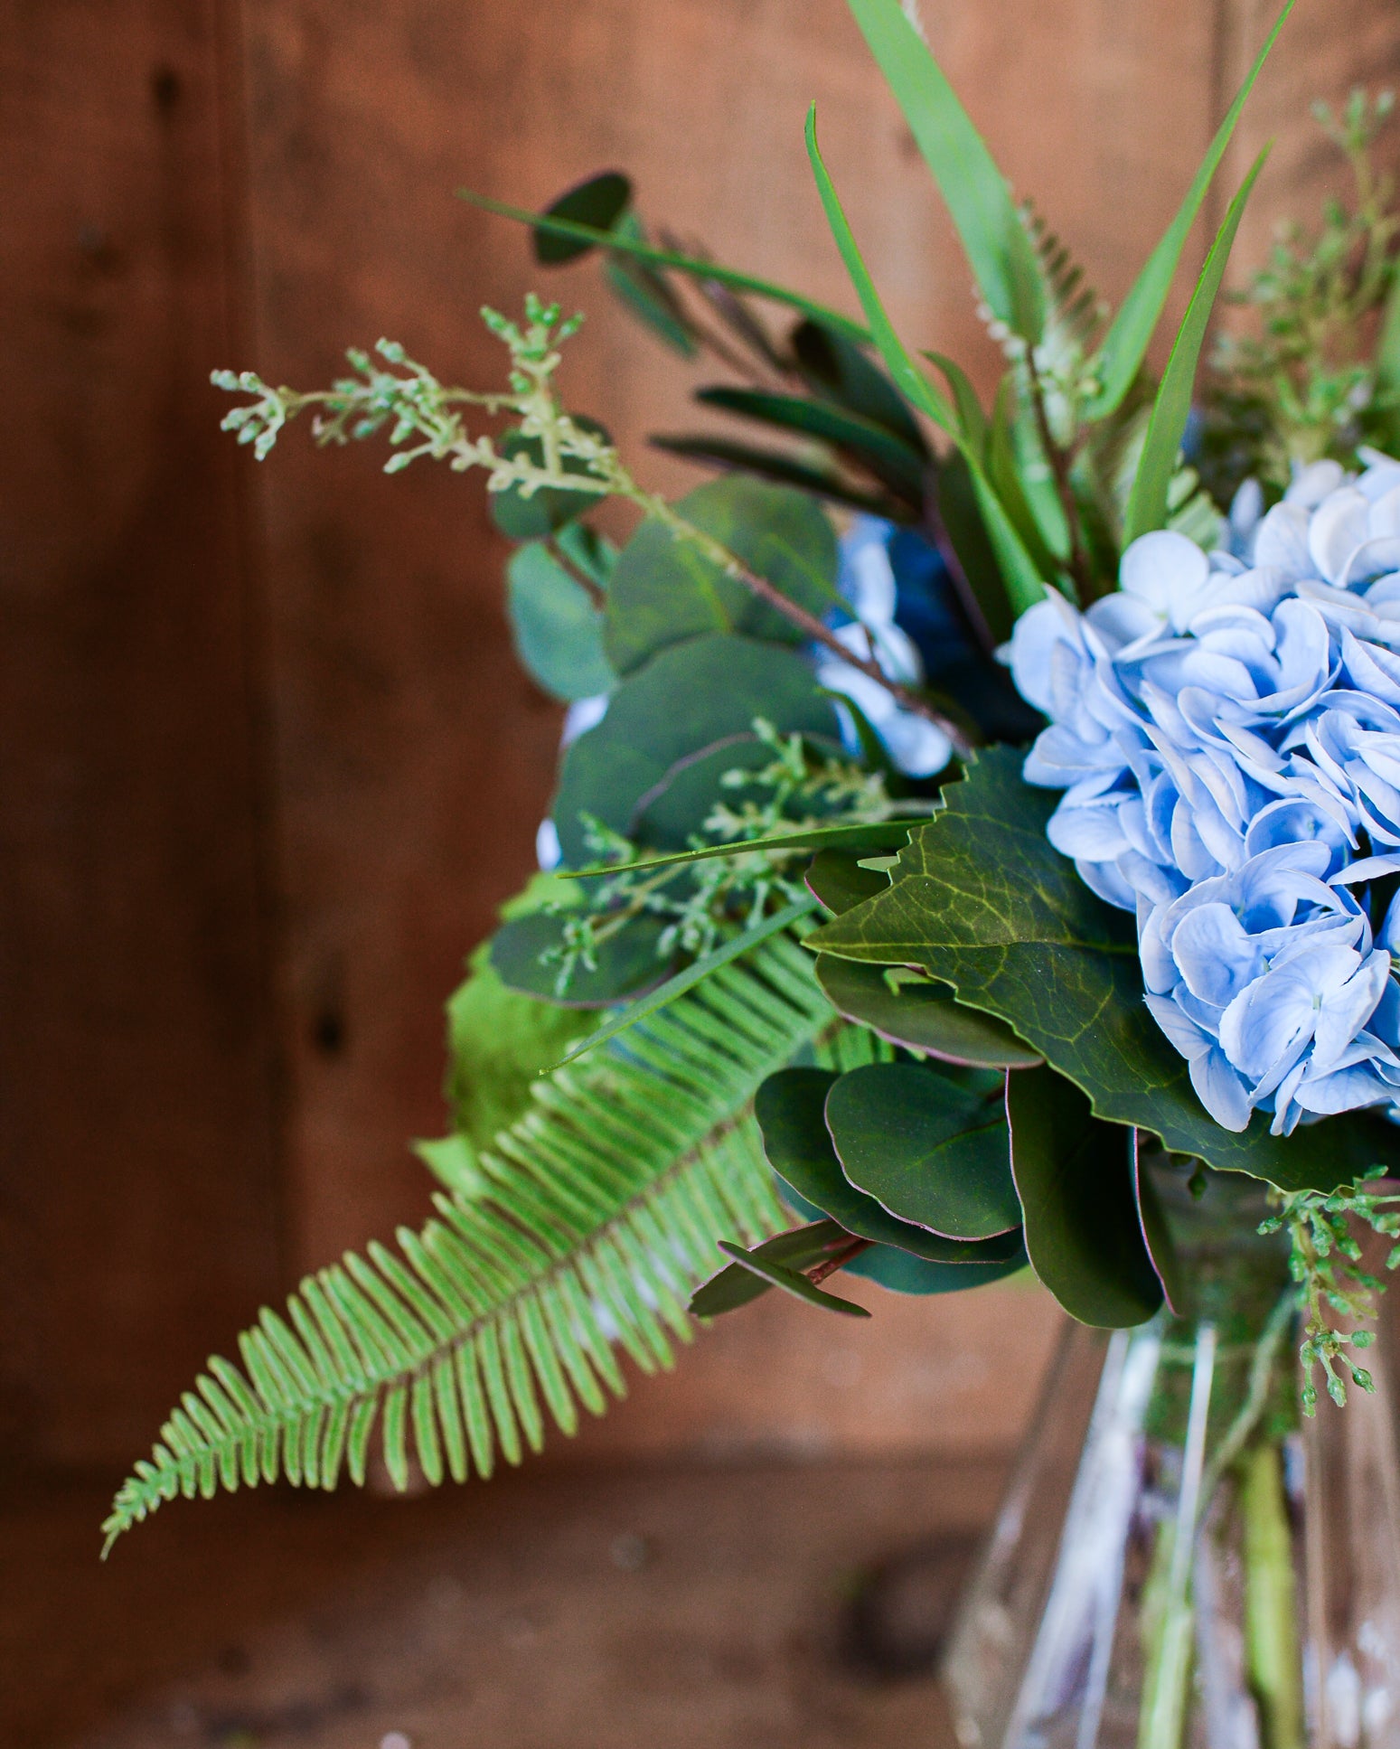
[[[1162,1284],[1138,1216],[1133,1132],[1098,1123],[1052,1069],[1010,1076],[1007,1118],[1035,1273],[1080,1324],[1152,1317]]]

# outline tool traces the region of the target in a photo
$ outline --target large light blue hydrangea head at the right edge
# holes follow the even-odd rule
[[[1302,470],[1230,549],[1152,533],[1010,642],[1049,836],[1138,918],[1147,1004],[1229,1130],[1400,1102],[1400,463]]]

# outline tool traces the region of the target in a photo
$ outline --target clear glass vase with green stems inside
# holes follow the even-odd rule
[[[1264,1193],[1159,1174],[1190,1307],[1066,1329],[944,1677],[963,1749],[1400,1749],[1400,1469],[1374,1394],[1299,1413]]]

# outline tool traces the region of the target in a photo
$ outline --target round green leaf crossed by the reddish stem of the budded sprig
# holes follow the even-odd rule
[[[687,493],[676,511],[809,614],[821,616],[839,603],[835,535],[807,493],[725,474]],[[613,568],[605,626],[608,659],[619,673],[631,673],[657,651],[704,631],[806,642],[799,626],[725,575],[694,542],[678,540],[664,523],[648,518]]]

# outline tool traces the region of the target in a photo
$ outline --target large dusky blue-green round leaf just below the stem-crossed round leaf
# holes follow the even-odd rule
[[[837,736],[835,712],[807,661],[778,644],[706,635],[661,651],[627,675],[596,729],[563,761],[554,824],[565,861],[594,861],[582,813],[626,833],[636,806],[671,768],[717,742],[752,735],[767,717],[781,733]]]

